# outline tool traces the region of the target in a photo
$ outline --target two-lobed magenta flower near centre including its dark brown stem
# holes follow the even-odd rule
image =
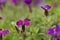
[[[30,19],[25,18],[24,20],[18,20],[16,22],[16,25],[17,26],[22,26],[22,32],[24,32],[25,31],[25,26],[29,26],[30,25]]]

